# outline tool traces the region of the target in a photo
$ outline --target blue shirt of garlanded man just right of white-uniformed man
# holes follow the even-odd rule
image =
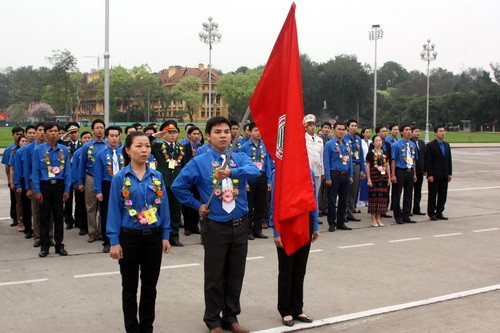
[[[326,143],[323,150],[326,180],[332,179],[330,171],[349,171],[349,177],[353,176],[352,159],[347,147],[344,140],[339,141],[336,137]]]

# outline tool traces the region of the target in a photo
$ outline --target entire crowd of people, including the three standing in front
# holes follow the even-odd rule
[[[200,128],[187,124],[186,138],[180,141],[174,120],[144,128],[134,124],[122,131],[97,119],[91,131],[81,133],[75,122],[65,128],[52,122],[14,127],[14,143],[2,157],[11,226],[34,239],[40,257],[49,255],[52,246],[56,254],[68,254],[64,225],[78,228],[89,243],[102,241],[103,252],[119,260],[127,332],[152,331],[161,253],[183,246],[181,227],[186,237],[201,234],[203,320],[213,333],[248,332],[237,320],[248,241],[267,239],[263,229],[271,226],[282,322],[312,322],[302,312],[310,243],[291,255],[283,251],[272,218],[273,159],[255,123],[245,124],[241,137],[239,126],[214,117],[206,124],[205,137]],[[368,205],[374,227],[385,226],[382,217],[390,217],[390,207],[397,223],[414,223],[412,214],[424,214],[420,201],[425,175],[427,214],[431,220],[447,219],[443,211],[452,169],[443,126],[435,127],[436,140],[427,145],[419,139],[420,129],[408,125],[378,126],[372,139],[370,129],[358,134],[356,120],[325,122],[316,130],[315,116],[304,117],[311,186],[318,202],[304,222],[310,225],[311,242],[319,237],[318,213],[327,215],[328,231],[351,230],[346,222],[360,220],[355,216],[358,203]]]

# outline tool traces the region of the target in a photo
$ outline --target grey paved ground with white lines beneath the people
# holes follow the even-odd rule
[[[500,296],[500,149],[455,149],[449,221],[369,227],[366,208],[353,231],[326,232],[314,243],[305,311],[314,332],[495,332]],[[425,189],[425,188],[424,188]],[[423,198],[426,200],[426,194]],[[38,258],[9,227],[0,174],[0,325],[3,332],[121,332],[118,264],[66,231],[70,255]],[[425,204],[424,204],[425,207]],[[265,231],[268,235],[270,230]],[[158,332],[206,332],[203,251],[196,236],[164,256],[158,284]],[[51,249],[53,250],[53,249]],[[276,311],[276,250],[250,242],[240,322],[284,332]]]

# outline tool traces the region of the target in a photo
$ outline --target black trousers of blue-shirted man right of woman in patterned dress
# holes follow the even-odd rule
[[[392,207],[396,222],[410,219],[413,172],[413,169],[396,168],[397,183],[392,184]],[[401,194],[403,194],[403,208],[401,208]]]

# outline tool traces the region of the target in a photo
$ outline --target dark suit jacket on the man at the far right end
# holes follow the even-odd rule
[[[427,172],[427,177],[448,179],[448,176],[452,175],[450,144],[443,142],[446,156],[443,156],[437,139],[432,140],[425,146],[425,172]]]

